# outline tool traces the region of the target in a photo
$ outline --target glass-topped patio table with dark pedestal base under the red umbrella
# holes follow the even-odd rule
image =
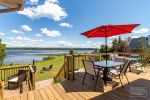
[[[105,85],[107,84],[107,81],[112,81],[112,79],[110,77],[108,77],[108,69],[109,68],[113,68],[113,67],[117,67],[117,66],[121,66],[123,65],[124,62],[118,62],[118,61],[112,61],[112,60],[104,60],[104,61],[96,61],[94,62],[94,65],[98,67],[103,67],[104,71],[103,71],[103,80]]]

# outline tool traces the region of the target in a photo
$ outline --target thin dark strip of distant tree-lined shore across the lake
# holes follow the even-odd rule
[[[36,47],[8,47],[7,50],[94,50],[95,48],[36,48]]]

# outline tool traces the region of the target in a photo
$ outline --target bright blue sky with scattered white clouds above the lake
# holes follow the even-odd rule
[[[103,38],[81,33],[106,24],[141,24],[132,33],[150,35],[150,0],[25,0],[24,10],[0,14],[7,47],[100,47]],[[114,36],[108,38],[108,44]]]

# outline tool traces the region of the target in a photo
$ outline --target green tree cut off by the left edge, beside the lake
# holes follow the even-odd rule
[[[6,45],[2,43],[0,39],[0,66],[3,65],[4,59],[6,58]]]

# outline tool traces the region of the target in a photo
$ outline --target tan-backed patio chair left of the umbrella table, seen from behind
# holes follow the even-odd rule
[[[95,86],[94,86],[94,90],[95,90],[96,85],[97,85],[97,80],[99,77],[101,78],[102,72],[100,70],[95,70],[93,61],[88,61],[88,60],[82,60],[82,61],[83,61],[83,65],[85,68],[85,74],[83,77],[82,85],[84,84],[84,80],[85,80],[86,75],[90,75],[93,78],[96,77]]]

